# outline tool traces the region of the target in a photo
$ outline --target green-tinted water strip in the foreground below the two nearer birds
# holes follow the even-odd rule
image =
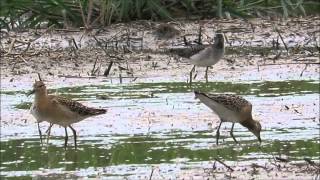
[[[255,139],[248,139],[241,141],[241,150],[235,150],[236,145],[228,136],[223,136],[226,146],[215,148],[211,145],[215,141],[214,135],[208,133],[210,132],[201,131],[191,134],[181,131],[181,134],[171,135],[170,139],[144,135],[118,136],[121,139],[102,136],[101,139],[81,140],[79,146],[81,149],[78,151],[65,151],[59,145],[62,144],[62,137],[53,136],[51,141],[58,140],[59,144],[49,145],[45,147],[46,150],[39,147],[39,139],[12,139],[0,143],[3,150],[0,160],[4,163],[2,166],[5,171],[32,172],[39,168],[63,168],[67,171],[74,171],[79,168],[109,167],[112,165],[121,167],[130,164],[172,163],[177,158],[186,158],[187,163],[212,161],[214,158],[237,162],[255,159],[253,153],[257,152],[263,156],[263,159],[280,153],[288,155],[290,160],[300,160],[304,157],[316,159],[319,156],[318,144],[315,139],[265,141],[261,148],[255,145],[257,143]],[[238,138],[246,137],[246,135],[239,134],[237,136]],[[104,145],[102,139],[107,139],[108,145]],[[209,146],[199,146],[199,139],[208,143]],[[194,146],[198,147],[193,148]],[[65,164],[64,162],[69,163]],[[124,168],[124,166],[122,167]]]

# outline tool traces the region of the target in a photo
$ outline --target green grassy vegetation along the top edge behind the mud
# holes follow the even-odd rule
[[[106,26],[131,20],[318,14],[316,0],[1,0],[0,27]]]

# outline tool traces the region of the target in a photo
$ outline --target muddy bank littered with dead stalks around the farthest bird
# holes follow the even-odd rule
[[[319,23],[319,17],[177,22],[172,24],[180,35],[171,39],[155,35],[159,23],[145,21],[91,32],[2,33],[1,88],[30,89],[36,73],[53,87],[101,81],[187,81],[192,66],[160,49],[183,45],[183,36],[197,40],[199,25],[204,44],[212,42],[218,29],[226,38],[227,54],[209,71],[210,81],[319,79]],[[114,64],[106,78],[103,74],[111,61]],[[204,80],[205,68],[197,69],[197,80]]]

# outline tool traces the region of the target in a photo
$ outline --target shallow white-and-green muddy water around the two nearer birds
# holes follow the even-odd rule
[[[263,126],[261,146],[245,128],[219,119],[194,99],[192,89],[236,93],[252,102]],[[64,150],[64,130],[54,126],[49,144],[41,145],[35,121],[28,114],[32,98],[26,91],[2,91],[1,176],[106,179],[148,178],[154,168],[159,178],[176,178],[184,169],[209,168],[215,158],[229,165],[264,164],[273,156],[302,161],[319,154],[319,81],[251,81],[246,83],[185,82],[97,85],[49,89],[87,105],[108,109],[105,115],[74,125],[73,139]],[[45,131],[48,124],[43,123]],[[71,134],[71,132],[69,133]]]

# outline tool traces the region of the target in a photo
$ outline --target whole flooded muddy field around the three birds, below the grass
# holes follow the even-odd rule
[[[205,68],[197,68],[192,86],[187,82],[192,66],[183,59],[150,51],[108,56],[92,36],[81,41],[80,31],[76,35],[46,32],[25,51],[27,45],[14,49],[12,38],[6,37],[2,45],[9,52],[1,60],[0,177],[319,179],[320,62],[315,45],[320,39],[316,26],[309,28],[319,21],[314,17],[276,22],[289,50],[278,42],[280,47],[273,47],[279,40],[272,30],[275,22],[257,21],[251,32],[247,22],[218,21],[228,40],[226,54],[209,69],[208,83]],[[205,22],[204,42],[210,42],[215,23]],[[145,49],[178,44],[178,40],[156,39],[154,27],[142,33]],[[188,22],[184,33],[198,27]],[[97,37],[110,39],[125,28],[116,25]],[[131,32],[139,36],[141,26],[135,31]],[[28,33],[13,37],[34,38]],[[70,39],[65,39],[71,35],[82,48],[71,47]],[[105,77],[110,60],[115,62]],[[106,114],[73,125],[78,134],[76,150],[71,131],[64,148],[64,128],[58,125],[52,127],[49,142],[40,143],[36,120],[29,112],[34,97],[27,96],[37,73],[50,94],[107,109]],[[240,142],[236,144],[230,136],[232,124],[223,123],[216,145],[220,120],[195,99],[195,90],[237,94],[250,101],[253,116],[262,125],[262,143],[236,124],[234,136]],[[46,134],[49,124],[40,127]]]

